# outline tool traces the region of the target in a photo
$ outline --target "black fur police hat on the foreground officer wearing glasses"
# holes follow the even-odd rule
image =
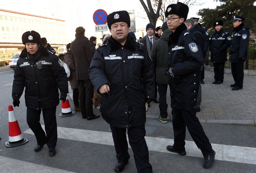
[[[168,15],[178,15],[179,17],[184,17],[185,21],[187,19],[188,10],[188,6],[181,2],[178,2],[177,4],[171,4],[166,8],[165,17]]]

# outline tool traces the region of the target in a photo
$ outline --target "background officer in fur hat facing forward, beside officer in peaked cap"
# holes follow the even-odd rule
[[[214,67],[214,82],[220,84],[224,80],[224,66],[227,61],[227,49],[231,44],[231,37],[228,32],[222,29],[223,21],[218,20],[213,23],[215,32],[210,39],[209,51],[211,52],[210,61]]]

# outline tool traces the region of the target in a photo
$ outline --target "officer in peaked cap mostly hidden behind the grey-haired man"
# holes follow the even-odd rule
[[[206,53],[208,51],[208,47],[209,47],[209,32],[208,29],[202,24],[199,23],[199,18],[197,17],[191,17],[190,19],[192,19],[194,21],[195,25],[198,25],[200,27],[202,27],[204,29],[204,53],[203,53],[203,58],[206,57]],[[200,76],[200,83],[204,84],[204,64],[203,64],[203,69],[201,71],[201,76]]]

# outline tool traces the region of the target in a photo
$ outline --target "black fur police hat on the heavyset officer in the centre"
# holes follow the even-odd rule
[[[116,22],[126,22],[130,27],[130,16],[127,11],[115,11],[107,16],[108,28],[111,29],[111,25]]]

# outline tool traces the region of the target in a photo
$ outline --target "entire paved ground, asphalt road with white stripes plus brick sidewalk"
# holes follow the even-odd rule
[[[48,156],[47,146],[40,152],[33,151],[36,139],[26,123],[24,96],[20,99],[20,107],[14,108],[14,111],[22,134],[29,142],[14,148],[5,147],[4,143],[9,140],[7,106],[12,103],[10,93],[13,74],[13,70],[0,72],[0,92],[4,93],[0,101],[0,172],[113,172],[116,158],[109,125],[102,118],[91,121],[82,119],[81,113],[72,117],[58,117],[61,104],[57,107],[56,156]],[[157,119],[158,104],[151,103],[145,127],[154,172],[256,172],[255,76],[245,76],[244,89],[239,91],[231,91],[233,80],[230,74],[225,74],[224,78],[223,84],[213,85],[213,72],[206,71],[206,83],[202,85],[202,112],[197,114],[216,151],[214,166],[208,170],[203,169],[202,154],[188,133],[186,156],[168,152],[166,146],[173,144],[171,117],[168,123],[162,124]],[[70,96],[70,106],[74,110]],[[245,106],[249,111],[242,108]],[[99,114],[99,109],[94,108],[94,112]],[[170,115],[170,108],[168,112]],[[42,117],[40,122],[44,125]],[[129,153],[131,158],[124,173],[136,172],[130,148]]]

